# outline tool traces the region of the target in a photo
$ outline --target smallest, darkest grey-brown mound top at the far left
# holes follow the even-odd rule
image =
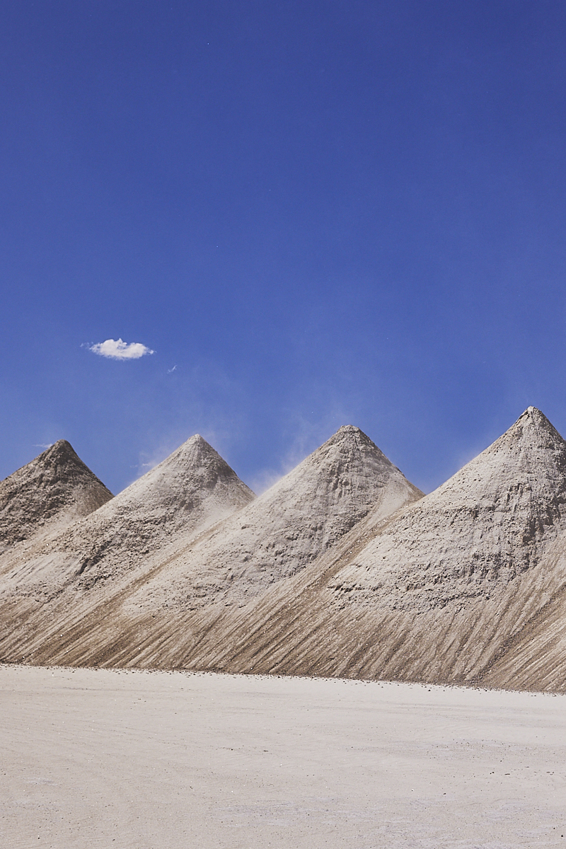
[[[0,482],[0,552],[86,516],[112,493],[64,439]]]

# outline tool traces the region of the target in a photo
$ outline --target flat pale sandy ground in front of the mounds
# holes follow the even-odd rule
[[[1,666],[0,734],[2,849],[566,847],[566,695]]]

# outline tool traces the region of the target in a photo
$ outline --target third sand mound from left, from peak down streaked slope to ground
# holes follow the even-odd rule
[[[421,496],[361,430],[340,428],[260,498],[146,557],[135,575],[126,571],[125,580],[109,582],[108,564],[101,571],[92,557],[82,561],[81,575],[64,592],[38,609],[30,601],[20,620],[25,627],[0,639],[0,657],[169,666],[171,646],[161,647],[171,640],[185,662],[202,616],[208,628],[224,611],[305,571],[370,510],[383,519]],[[110,594],[100,591],[110,584]],[[21,610],[20,604],[19,616]]]

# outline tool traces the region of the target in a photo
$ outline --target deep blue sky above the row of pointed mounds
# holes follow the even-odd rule
[[[429,491],[566,435],[563,2],[0,8],[0,477],[199,432],[261,489],[356,424]]]

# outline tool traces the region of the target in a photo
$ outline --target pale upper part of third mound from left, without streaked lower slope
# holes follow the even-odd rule
[[[345,425],[160,572],[147,588],[152,604],[244,604],[304,569],[370,510],[385,517],[422,495],[359,428]]]

